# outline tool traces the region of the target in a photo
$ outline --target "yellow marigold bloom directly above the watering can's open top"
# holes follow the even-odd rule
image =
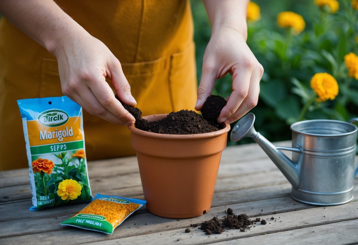
[[[311,88],[318,95],[317,101],[334,100],[338,95],[338,83],[335,78],[324,72],[316,73],[311,79]]]

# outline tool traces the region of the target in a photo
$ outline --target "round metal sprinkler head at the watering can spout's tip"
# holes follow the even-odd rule
[[[253,113],[248,113],[243,116],[233,127],[230,139],[231,141],[239,141],[245,137],[251,137],[256,140],[259,136],[259,133],[256,132],[253,127],[253,123],[255,122],[255,115]]]

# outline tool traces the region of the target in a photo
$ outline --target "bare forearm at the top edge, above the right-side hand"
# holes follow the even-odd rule
[[[221,28],[231,28],[247,38],[246,11],[248,0],[203,0],[212,35]]]

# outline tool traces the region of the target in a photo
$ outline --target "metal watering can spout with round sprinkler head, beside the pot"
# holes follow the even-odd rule
[[[239,141],[244,137],[252,137],[253,140],[262,148],[271,161],[282,172],[286,179],[291,183],[292,187],[297,189],[300,185],[300,174],[297,163],[293,162],[281,150],[288,150],[301,153],[299,148],[281,147],[273,145],[269,140],[263,137],[253,127],[255,115],[248,113],[243,116],[233,127],[231,132],[231,141]]]

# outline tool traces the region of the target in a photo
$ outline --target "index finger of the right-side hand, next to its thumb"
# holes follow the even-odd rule
[[[245,66],[234,66],[232,77],[232,92],[219,115],[218,122],[221,123],[237,111],[239,106],[245,100],[250,88],[252,69]]]

